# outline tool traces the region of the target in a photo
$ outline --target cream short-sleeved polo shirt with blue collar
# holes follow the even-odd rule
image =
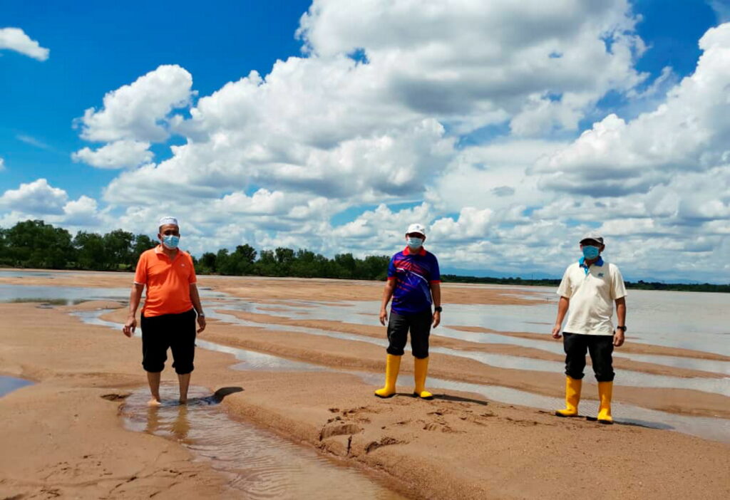
[[[565,270],[558,295],[570,300],[564,332],[613,335],[613,302],[626,297],[626,286],[616,265],[599,258],[586,269],[580,259]]]

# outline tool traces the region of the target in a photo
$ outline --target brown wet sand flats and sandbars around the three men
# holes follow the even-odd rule
[[[124,274],[94,274],[100,274],[99,282],[105,287],[123,287],[130,279]],[[77,278],[74,284],[63,286],[96,286],[91,283],[96,283],[96,277],[88,278],[82,285]],[[39,279],[37,284],[50,284],[50,280],[33,279]],[[204,286],[221,291],[220,284],[229,280],[236,282],[236,286],[226,286],[229,292],[253,293],[248,291],[252,284],[238,284],[247,281],[246,278],[201,278]],[[271,297],[265,298],[272,303],[277,293],[281,294],[279,299],[286,300],[304,297],[306,300],[312,297],[377,300],[382,287],[382,284],[356,283],[334,290],[337,287],[330,281],[291,280],[285,285],[278,280],[269,281],[272,283],[259,280],[256,284],[269,290],[266,294]],[[308,288],[304,295],[297,290],[301,282]],[[472,290],[463,294],[475,297]],[[455,296],[449,295],[449,300],[456,302]],[[485,302],[477,303],[513,298],[508,293],[488,290],[479,298]],[[179,445],[123,429],[118,417],[123,399],[118,398],[145,386],[144,372],[139,366],[140,340],[127,339],[105,327],[83,324],[68,314],[70,309],[114,308],[115,305],[119,304],[86,302],[72,308],[0,304],[5,319],[0,331],[0,372],[37,382],[0,398],[0,418],[4,422],[0,429],[0,442],[4,444],[0,453],[0,498],[15,495],[49,498],[57,493],[74,498],[136,499],[155,493],[155,498],[235,498],[236,492],[226,486],[226,477],[205,462],[191,461],[190,453]],[[207,307],[211,309],[212,303]],[[123,309],[107,316],[119,321],[120,315],[125,316]],[[199,349],[193,383],[210,391],[227,386],[243,388],[223,400],[222,406],[232,417],[257,423],[288,440],[374,471],[391,488],[412,498],[684,499],[702,496],[721,499],[730,496],[730,482],[726,480],[730,445],[726,443],[672,431],[558,419],[529,407],[501,405],[473,394],[449,392],[432,402],[405,395],[376,399],[372,397],[371,384],[336,369],[353,367],[380,374],[382,347],[286,332],[287,326],[296,325],[281,324],[280,330],[278,326],[271,330],[210,321],[201,340],[241,345],[321,364],[334,371],[231,370],[237,364],[233,356]],[[337,325],[327,322],[299,326],[337,329]],[[377,330],[382,335],[380,327],[348,327],[354,328],[351,333],[356,335],[372,337],[377,335]],[[465,341],[445,337],[441,341],[449,348],[475,348]],[[498,352],[495,345],[481,346],[489,352]],[[546,359],[554,356],[539,349],[520,352],[520,355],[537,359],[543,355]],[[442,355],[433,356],[431,364],[434,377],[502,386],[505,378],[515,378],[515,386],[538,394],[558,395],[561,388],[559,373],[554,374],[553,380],[549,376],[553,374],[545,372],[491,370],[473,360]],[[410,356],[404,357],[403,365],[399,390],[409,391]],[[638,369],[634,366],[631,370]],[[672,375],[702,376],[690,373],[693,370],[678,375],[680,371],[672,369]],[[168,381],[174,378],[169,366],[163,378]],[[538,380],[531,380],[535,378]],[[628,389],[631,388],[621,388],[622,400],[650,399],[650,393],[658,391],[639,391],[632,396]],[[588,395],[593,388],[586,384],[584,391]],[[676,409],[679,413],[692,414],[688,411],[692,406],[710,413],[727,411],[727,398],[696,393],[699,391],[666,393],[664,398],[688,402],[686,407]],[[703,394],[709,399],[702,399]],[[715,397],[720,399],[715,401]],[[643,405],[648,403],[644,401]],[[656,459],[637,460],[637,457]],[[575,477],[580,477],[580,481]],[[330,493],[332,496],[328,496]],[[337,498],[337,492],[323,491],[323,498]]]

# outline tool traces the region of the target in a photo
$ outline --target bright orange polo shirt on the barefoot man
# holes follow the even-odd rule
[[[188,252],[178,250],[172,260],[161,245],[143,252],[134,273],[134,283],[147,285],[142,314],[149,318],[191,310],[190,285],[197,280],[193,257]]]

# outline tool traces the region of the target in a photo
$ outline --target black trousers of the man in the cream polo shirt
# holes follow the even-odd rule
[[[599,382],[611,382],[613,376],[613,336],[582,335],[563,332],[565,375],[580,380],[585,369],[585,351],[591,354],[593,373]]]

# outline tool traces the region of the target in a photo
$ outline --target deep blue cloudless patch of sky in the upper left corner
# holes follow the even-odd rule
[[[266,74],[277,58],[299,55],[294,32],[309,4],[223,1],[202,14],[192,1],[1,1],[0,27],[22,27],[51,56],[39,62],[0,52],[1,71],[13,75],[0,79],[0,151],[13,165],[0,176],[0,190],[42,176],[74,198],[99,195],[115,173],[72,162],[71,153],[85,145],[74,119],[160,64],[191,71],[201,95],[252,69]]]

